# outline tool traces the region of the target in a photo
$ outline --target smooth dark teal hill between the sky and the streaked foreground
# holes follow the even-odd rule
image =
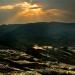
[[[0,26],[0,48],[24,48],[35,43],[75,46],[75,23],[40,22]]]

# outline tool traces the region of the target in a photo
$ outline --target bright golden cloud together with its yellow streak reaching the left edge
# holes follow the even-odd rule
[[[32,2],[21,2],[21,3],[15,4],[15,5],[0,6],[1,10],[13,10],[15,8],[19,8],[21,15],[27,14],[27,13],[30,13],[31,15],[32,15],[32,13],[34,15],[38,15],[43,10],[41,5],[32,3]]]

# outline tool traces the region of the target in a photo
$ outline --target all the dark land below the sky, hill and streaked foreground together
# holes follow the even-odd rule
[[[75,23],[1,25],[0,72],[12,71],[75,75]]]

